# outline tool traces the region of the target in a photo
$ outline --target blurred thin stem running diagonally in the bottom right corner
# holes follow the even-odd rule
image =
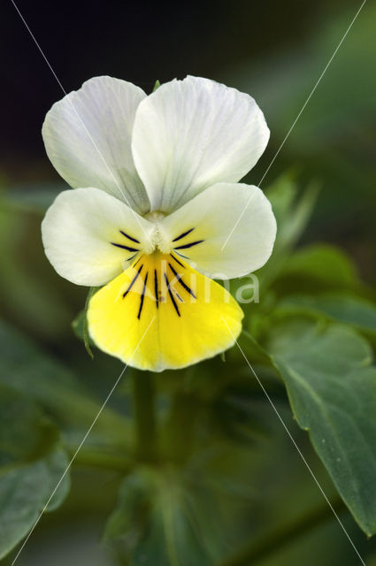
[[[332,505],[337,515],[346,509],[340,497],[333,501]],[[246,545],[232,558],[223,562],[221,566],[249,566],[249,564],[256,564],[273,555],[280,548],[291,544],[306,532],[310,532],[311,529],[326,523],[333,516],[333,510],[325,502],[317,509],[311,510],[309,514],[300,517],[283,528],[266,534],[256,543]]]

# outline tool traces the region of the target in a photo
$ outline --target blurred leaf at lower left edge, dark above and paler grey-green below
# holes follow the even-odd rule
[[[68,474],[58,482],[67,465],[57,428],[35,404],[0,387],[0,558],[27,535],[45,505],[57,509],[64,501]]]

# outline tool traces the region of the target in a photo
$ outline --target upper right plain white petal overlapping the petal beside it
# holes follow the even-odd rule
[[[170,212],[217,182],[249,172],[269,139],[251,96],[188,77],[157,88],[134,120],[134,163],[151,210]]]

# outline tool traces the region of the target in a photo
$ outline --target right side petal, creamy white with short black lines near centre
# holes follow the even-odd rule
[[[261,189],[219,183],[165,217],[160,231],[164,248],[175,256],[186,257],[212,279],[232,279],[267,262],[276,222]]]

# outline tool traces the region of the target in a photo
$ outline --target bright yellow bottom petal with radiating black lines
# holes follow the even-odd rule
[[[182,368],[234,344],[242,309],[180,256],[155,252],[93,295],[88,329],[98,348],[136,368]]]

